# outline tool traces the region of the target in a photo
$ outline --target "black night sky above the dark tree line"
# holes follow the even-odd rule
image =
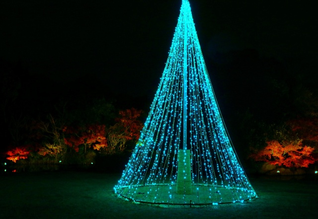
[[[190,0],[212,79],[220,54],[244,49],[277,60],[287,74],[317,73],[313,2]],[[91,77],[105,92],[153,98],[180,6],[181,0],[1,0],[0,61],[19,63],[56,89]]]

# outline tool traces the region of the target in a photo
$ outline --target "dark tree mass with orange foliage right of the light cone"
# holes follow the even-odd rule
[[[291,70],[255,50],[215,54],[209,67],[221,113],[241,160],[253,157],[288,167],[292,166],[288,162],[308,166],[317,160],[313,140],[318,136],[318,89],[310,81],[313,72]],[[274,145],[282,149],[276,155],[269,150]],[[284,153],[287,145],[299,148]],[[302,156],[304,162],[295,158],[301,153],[309,153]]]

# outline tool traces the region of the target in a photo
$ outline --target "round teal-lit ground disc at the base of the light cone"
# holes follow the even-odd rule
[[[257,197],[254,191],[204,184],[192,184],[192,194],[177,194],[176,185],[169,184],[117,187],[116,194],[134,203],[175,208],[244,203]]]

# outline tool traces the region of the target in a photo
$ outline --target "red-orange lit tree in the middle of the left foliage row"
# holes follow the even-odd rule
[[[107,146],[105,125],[89,125],[77,129],[65,127],[63,131],[70,135],[69,138],[64,139],[65,144],[73,147],[77,152],[80,145],[84,146],[84,152],[86,152],[86,147],[99,150]]]

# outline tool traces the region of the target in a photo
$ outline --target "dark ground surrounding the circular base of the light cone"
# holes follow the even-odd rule
[[[316,177],[316,178],[315,178]],[[0,175],[0,219],[317,219],[318,178],[249,177],[259,198],[208,208],[160,208],[117,198],[118,173]]]

